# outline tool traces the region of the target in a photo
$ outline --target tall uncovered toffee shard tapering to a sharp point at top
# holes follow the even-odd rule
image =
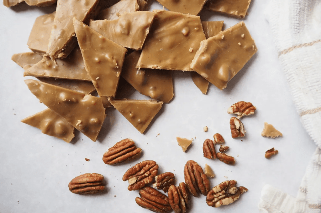
[[[86,70],[99,96],[115,97],[127,49],[74,18]]]

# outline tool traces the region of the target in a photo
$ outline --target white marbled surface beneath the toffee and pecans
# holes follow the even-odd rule
[[[191,213],[258,212],[257,203],[264,184],[296,196],[316,145],[303,129],[291,100],[264,16],[267,3],[261,0],[251,3],[244,21],[258,52],[230,81],[227,89],[220,91],[210,85],[208,94],[203,95],[189,73],[173,72],[175,98],[163,106],[145,134],[140,134],[116,110],[109,110],[97,142],[76,134],[70,144],[20,122],[45,106],[30,93],[23,82],[22,68],[11,60],[14,53],[29,51],[26,43],[36,17],[53,10],[25,4],[14,8],[0,5],[0,212],[150,212],[135,203],[138,193],[128,191],[128,183],[122,181],[126,170],[143,160],[155,160],[160,172],[173,172],[177,183],[184,181],[187,160],[195,160],[202,167],[207,163],[216,174],[210,180],[212,186],[226,180],[226,176],[249,189],[239,201],[221,209],[207,206],[203,195],[192,197]],[[161,8],[155,2],[150,6]],[[224,20],[224,28],[239,22],[208,11],[201,13],[201,19]],[[130,98],[146,99],[138,92]],[[243,141],[230,137],[231,115],[226,113],[230,105],[240,100],[250,101],[257,107],[255,115],[242,119],[247,130]],[[261,137],[264,122],[273,124],[283,137]],[[208,132],[203,132],[204,126],[208,126]],[[220,132],[230,146],[228,154],[236,158],[235,166],[203,157],[204,139],[212,138],[216,132]],[[194,138],[187,153],[178,146],[176,136]],[[124,138],[132,138],[143,149],[142,157],[119,166],[104,164],[103,153]],[[278,149],[279,154],[267,160],[265,151],[272,147]],[[84,158],[91,160],[86,162]],[[92,172],[105,177],[107,193],[82,196],[69,192],[68,183],[72,178]]]

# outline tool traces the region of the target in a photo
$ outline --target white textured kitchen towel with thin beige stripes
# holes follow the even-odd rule
[[[266,17],[301,122],[318,147],[297,197],[265,185],[259,209],[321,212],[321,0],[270,0]]]

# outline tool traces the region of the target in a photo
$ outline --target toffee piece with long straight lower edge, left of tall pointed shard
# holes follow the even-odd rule
[[[85,69],[79,47],[75,48],[66,59],[56,59],[56,64],[49,57],[44,57],[26,70],[23,75],[91,81]]]

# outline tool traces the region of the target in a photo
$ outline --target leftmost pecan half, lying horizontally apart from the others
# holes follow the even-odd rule
[[[75,194],[95,194],[105,190],[104,176],[97,173],[86,173],[72,179],[69,190]]]

